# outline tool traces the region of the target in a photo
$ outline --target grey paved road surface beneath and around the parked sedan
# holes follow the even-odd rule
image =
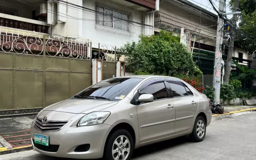
[[[0,160],[70,160],[23,151]],[[135,150],[132,160],[256,160],[256,112],[215,117],[201,143],[187,136]]]

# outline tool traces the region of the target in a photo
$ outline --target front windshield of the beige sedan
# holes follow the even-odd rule
[[[142,78],[111,78],[90,86],[74,97],[119,101],[141,81]]]

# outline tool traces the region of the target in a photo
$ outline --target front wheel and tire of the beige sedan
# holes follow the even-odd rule
[[[123,138],[123,143],[121,138]],[[119,156],[119,160],[130,160],[133,155],[133,148],[131,134],[124,129],[115,130],[106,141],[103,159],[114,160]],[[115,153],[113,152],[114,154],[112,154],[112,151]]]

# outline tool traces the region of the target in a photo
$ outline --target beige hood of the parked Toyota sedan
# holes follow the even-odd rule
[[[117,104],[116,101],[92,100],[92,99],[67,99],[56,104],[52,104],[44,111],[57,111],[69,113],[85,113],[100,111]]]

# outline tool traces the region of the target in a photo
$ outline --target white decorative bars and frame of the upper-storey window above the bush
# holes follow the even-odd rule
[[[97,22],[99,20],[99,14],[102,14],[101,12],[100,13],[96,13],[96,26],[102,26],[102,27],[106,27],[106,28],[111,28],[111,29],[114,29],[114,30],[119,30],[119,31],[124,31],[124,32],[128,32],[130,33],[131,32],[131,26],[127,26],[128,27],[128,30],[123,30],[123,26],[121,25],[121,29],[119,28],[115,28],[115,19],[114,18],[114,13],[121,13],[121,16],[123,17],[123,15],[127,15],[128,16],[128,20],[131,21],[132,20],[132,13],[128,13],[128,12],[123,12],[119,9],[115,9],[114,7],[108,7],[106,5],[103,5],[103,4],[96,4],[96,11],[99,12],[99,8],[103,8],[103,15],[101,15],[103,17],[103,25],[99,24],[100,22]],[[105,25],[105,17],[109,17],[108,15],[105,15],[105,9],[109,9],[113,12],[113,17],[111,17],[111,23],[112,23],[112,27],[110,26],[106,26]],[[123,18],[121,18],[122,20],[121,21],[121,24],[123,24],[124,20]],[[106,21],[107,22],[107,21]]]

